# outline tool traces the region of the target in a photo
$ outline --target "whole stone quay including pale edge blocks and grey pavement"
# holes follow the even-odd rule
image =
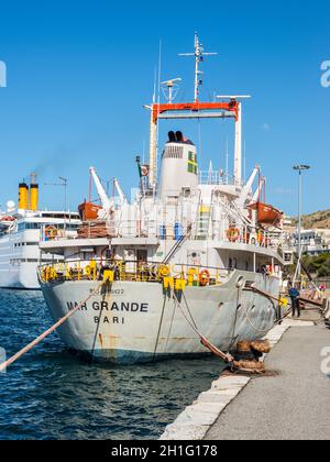
[[[267,339],[266,374],[221,376],[161,439],[329,440],[330,330],[319,310],[308,307]]]

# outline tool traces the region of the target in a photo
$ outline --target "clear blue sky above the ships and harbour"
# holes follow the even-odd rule
[[[41,206],[72,210],[88,197],[89,167],[118,177],[130,195],[139,183],[135,156],[148,146],[148,112],[162,50],[162,80],[180,77],[177,101],[193,100],[194,33],[209,52],[201,99],[251,95],[244,102],[245,176],[255,165],[267,177],[267,201],[289,215],[298,208],[295,164],[304,178],[304,211],[330,208],[330,3],[127,0],[0,0],[0,205],[18,200],[18,183],[36,172]],[[162,46],[160,46],[160,43]],[[196,142],[200,167],[233,158],[233,123],[162,122]]]

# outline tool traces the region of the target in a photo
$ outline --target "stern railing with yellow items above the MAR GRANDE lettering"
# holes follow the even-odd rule
[[[178,263],[164,265],[160,262],[94,258],[43,264],[38,267],[38,276],[43,283],[109,280],[163,283],[166,287],[219,286],[233,271]]]

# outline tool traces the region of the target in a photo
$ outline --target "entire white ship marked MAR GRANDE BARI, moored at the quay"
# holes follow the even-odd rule
[[[198,40],[195,56],[202,56]],[[118,180],[118,197],[108,198],[91,168],[102,202],[96,219],[86,219],[76,240],[41,244],[64,257],[40,267],[53,318],[88,300],[59,329],[74,350],[127,364],[206,353],[200,337],[229,351],[274,326],[282,213],[261,200],[260,167],[242,182],[243,97],[200,102],[196,86],[194,102],[148,107],[150,163],[138,158],[136,199],[129,202]],[[157,175],[160,120],[200,118],[234,121],[233,178],[201,172],[196,145],[180,131],[168,133]]]

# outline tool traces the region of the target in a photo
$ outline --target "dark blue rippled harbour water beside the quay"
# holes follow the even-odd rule
[[[8,356],[51,326],[40,293],[0,290]],[[53,334],[0,374],[0,439],[155,439],[221,373],[208,358],[88,364]]]

